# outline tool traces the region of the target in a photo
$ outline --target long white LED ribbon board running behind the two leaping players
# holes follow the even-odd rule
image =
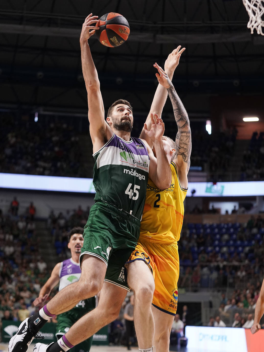
[[[95,193],[92,178],[0,173],[0,188]],[[264,195],[264,181],[189,182],[187,197],[232,197]]]

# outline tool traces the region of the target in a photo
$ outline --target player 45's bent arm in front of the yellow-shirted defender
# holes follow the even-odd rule
[[[144,124],[144,130],[146,136],[151,140],[155,148],[156,157],[154,156],[151,147],[146,144],[148,155],[150,157],[149,177],[159,189],[164,190],[171,186],[172,180],[170,164],[162,142],[164,123],[157,114],[154,117],[151,114],[150,119],[150,130],[148,130],[147,124]]]

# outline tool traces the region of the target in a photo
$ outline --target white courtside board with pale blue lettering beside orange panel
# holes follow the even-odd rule
[[[186,326],[188,351],[247,352],[245,329]]]

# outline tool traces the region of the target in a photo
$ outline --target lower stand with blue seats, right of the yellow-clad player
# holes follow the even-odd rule
[[[188,224],[179,241],[178,287],[242,287],[262,281],[264,218],[246,224]]]

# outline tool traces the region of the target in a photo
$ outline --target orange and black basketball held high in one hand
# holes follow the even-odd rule
[[[95,31],[99,42],[109,48],[122,45],[127,40],[130,27],[124,16],[116,12],[109,12],[99,18]]]

